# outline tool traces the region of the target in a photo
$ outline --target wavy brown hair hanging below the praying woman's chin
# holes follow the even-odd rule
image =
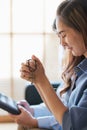
[[[75,77],[74,67],[77,66],[85,57],[84,56],[73,56],[71,51],[67,51],[64,60],[64,69],[62,72],[63,88],[60,91],[60,95],[68,91],[72,87],[72,76]]]

